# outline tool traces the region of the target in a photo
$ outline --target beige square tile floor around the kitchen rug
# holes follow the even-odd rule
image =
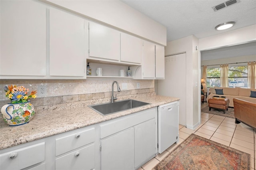
[[[202,104],[202,107],[207,103]],[[168,153],[172,152],[190,134],[213,140],[215,142],[236,148],[251,155],[251,170],[256,170],[256,131],[244,125],[235,124],[235,120],[228,117],[201,113],[202,123],[195,130],[179,125],[180,141],[166,149],[162,154],[156,155],[138,170],[151,170]]]

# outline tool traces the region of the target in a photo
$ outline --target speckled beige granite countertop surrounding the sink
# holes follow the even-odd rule
[[[50,105],[35,108],[36,114],[29,123],[10,127],[0,118],[0,149],[8,148],[18,144],[38,140],[40,138],[60,134],[77,128],[94,125],[129,115],[142,110],[150,109],[166,103],[178,101],[176,97],[158,95],[119,97],[119,100],[134,99],[150,103],[134,109],[102,116],[96,111],[87,107],[98,103],[108,103],[109,100],[98,99],[97,101],[74,102],[69,105]]]

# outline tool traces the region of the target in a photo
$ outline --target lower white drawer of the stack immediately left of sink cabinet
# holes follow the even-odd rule
[[[90,170],[94,168],[94,144],[56,159],[56,170]]]

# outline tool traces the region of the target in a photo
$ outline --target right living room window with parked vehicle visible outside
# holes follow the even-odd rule
[[[228,87],[248,88],[247,65],[228,67]]]

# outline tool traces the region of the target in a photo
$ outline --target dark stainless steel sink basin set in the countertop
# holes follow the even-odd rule
[[[144,106],[144,105],[148,105],[148,104],[150,104],[150,103],[145,103],[142,101],[128,99],[128,100],[116,101],[114,103],[103,103],[103,104],[98,104],[98,105],[90,105],[88,107],[90,107],[94,111],[100,113],[100,115],[105,116],[105,115],[110,115],[113,113],[125,111],[128,109],[133,109],[135,107],[140,107],[140,106]]]

